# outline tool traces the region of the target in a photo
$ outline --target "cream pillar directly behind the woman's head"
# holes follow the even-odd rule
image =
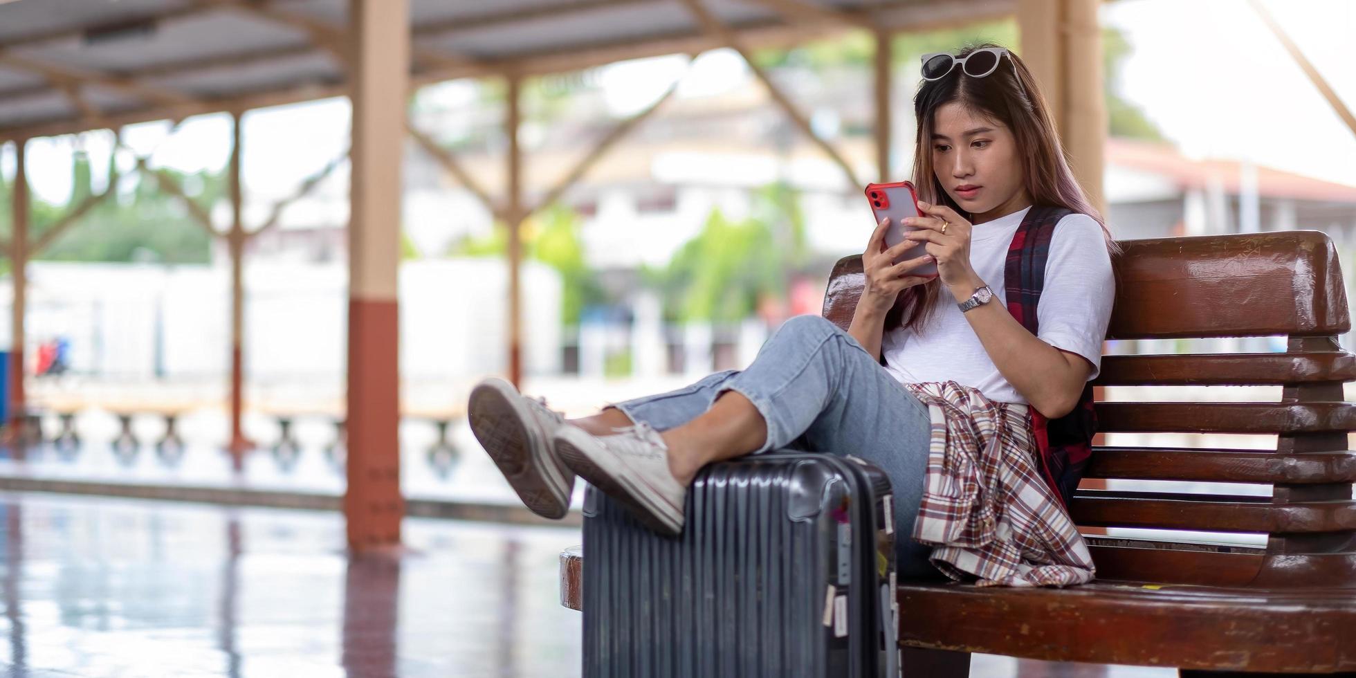
[[[1102,167],[1106,99],[1098,0],[1018,0],[1021,58],[1045,95],[1074,176],[1106,213]]]

